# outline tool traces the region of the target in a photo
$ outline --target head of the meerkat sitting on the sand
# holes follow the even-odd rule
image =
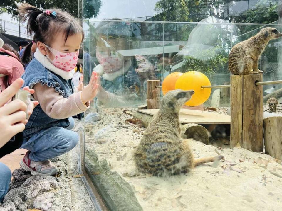
[[[168,111],[178,113],[180,108],[184,105],[184,103],[192,98],[194,93],[194,90],[184,91],[181,89],[176,89],[169,91],[162,98],[161,107],[167,108]]]

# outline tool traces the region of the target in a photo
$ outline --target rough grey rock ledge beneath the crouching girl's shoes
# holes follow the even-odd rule
[[[77,122],[78,123],[78,122]],[[10,190],[0,203],[0,211],[76,211],[95,210],[78,174],[77,150],[52,159],[61,176],[31,176],[17,169],[13,172]]]

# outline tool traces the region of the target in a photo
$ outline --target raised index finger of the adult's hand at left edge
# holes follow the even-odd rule
[[[4,106],[23,86],[24,80],[22,78],[16,79],[7,89],[0,94],[0,107]]]

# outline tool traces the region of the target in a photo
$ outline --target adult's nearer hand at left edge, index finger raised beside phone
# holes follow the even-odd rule
[[[24,131],[26,120],[26,104],[21,100],[14,100],[5,105],[24,84],[19,78],[11,86],[0,93],[0,148],[14,135]]]

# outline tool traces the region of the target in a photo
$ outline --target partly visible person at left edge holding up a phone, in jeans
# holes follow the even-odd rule
[[[28,115],[30,116],[34,106],[38,105],[37,101],[31,101],[32,103],[28,107],[21,100],[9,102],[23,84],[23,79],[16,79],[11,86],[0,93],[0,158],[6,154],[10,154],[21,146],[23,142],[22,131],[28,121],[26,120],[25,111],[28,109]],[[24,90],[34,93],[34,90],[28,87],[24,87]],[[5,104],[6,106],[4,106]],[[0,203],[8,192],[11,176],[10,169],[0,163]]]

